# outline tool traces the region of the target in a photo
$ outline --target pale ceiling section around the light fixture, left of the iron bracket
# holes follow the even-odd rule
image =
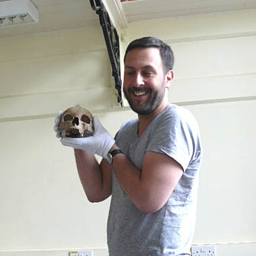
[[[0,38],[57,30],[99,26],[98,15],[88,0],[32,0],[39,10],[39,22],[0,28]]]

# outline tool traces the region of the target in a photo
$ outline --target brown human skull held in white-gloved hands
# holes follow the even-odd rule
[[[85,108],[67,108],[60,118],[59,131],[65,130],[67,137],[89,137],[94,134],[93,116]]]

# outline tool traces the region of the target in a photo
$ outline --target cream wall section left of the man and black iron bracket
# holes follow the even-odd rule
[[[0,250],[106,248],[109,201],[88,203],[53,132],[57,111],[80,103],[115,134],[101,28],[5,38],[0,56]]]

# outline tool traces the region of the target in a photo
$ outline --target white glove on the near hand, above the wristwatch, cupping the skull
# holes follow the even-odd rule
[[[104,129],[97,117],[94,117],[94,135],[90,137],[71,138],[61,133],[61,143],[77,150],[86,150],[106,158],[108,151],[115,144],[115,139]]]

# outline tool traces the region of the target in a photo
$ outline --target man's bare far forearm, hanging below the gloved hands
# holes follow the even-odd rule
[[[112,168],[102,161],[96,161],[94,154],[75,150],[75,160],[80,181],[90,202],[99,202],[112,193]]]

